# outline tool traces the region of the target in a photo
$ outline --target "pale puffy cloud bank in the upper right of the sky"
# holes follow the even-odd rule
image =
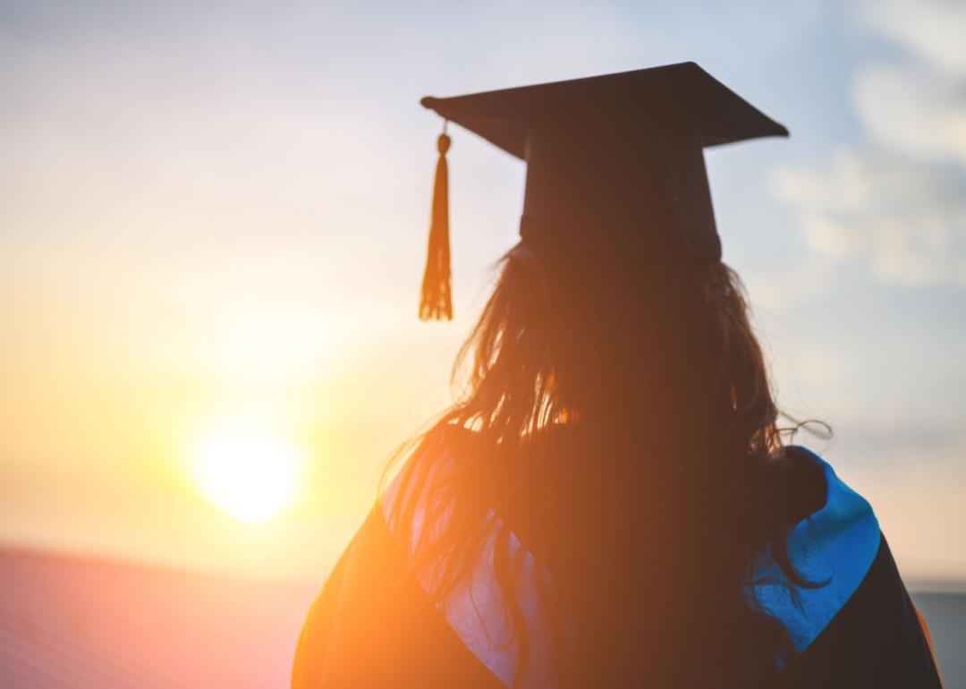
[[[818,255],[884,282],[966,286],[966,6],[887,0],[856,19],[895,50],[852,73],[866,141],[776,170],[773,190]]]

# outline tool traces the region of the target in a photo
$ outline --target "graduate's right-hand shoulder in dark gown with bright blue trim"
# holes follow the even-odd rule
[[[872,506],[817,453],[786,449],[799,472],[824,481],[824,500],[785,539],[782,560],[808,581],[789,581],[765,548],[746,590],[753,605],[781,621],[810,686],[939,689],[923,618]]]

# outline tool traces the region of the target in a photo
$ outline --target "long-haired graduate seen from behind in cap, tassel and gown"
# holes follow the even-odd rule
[[[779,427],[722,262],[703,149],[787,130],[694,63],[422,103],[526,160],[521,240],[293,688],[940,687],[872,507]],[[424,319],[452,317],[450,143]]]

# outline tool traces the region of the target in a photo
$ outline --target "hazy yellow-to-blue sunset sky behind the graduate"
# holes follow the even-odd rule
[[[0,543],[321,580],[517,241],[524,164],[451,128],[456,318],[417,321],[419,98],[694,60],[791,130],[707,163],[781,409],[834,430],[796,442],[907,578],[966,581],[964,35],[943,0],[0,0]],[[206,448],[259,444],[291,495],[240,519]]]

